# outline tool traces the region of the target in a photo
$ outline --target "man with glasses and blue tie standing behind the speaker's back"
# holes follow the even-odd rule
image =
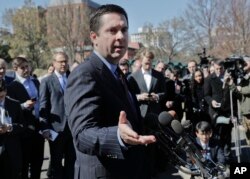
[[[54,73],[44,78],[40,86],[41,127],[50,147],[48,177],[68,179],[74,176],[75,163],[73,139],[65,116],[63,98],[67,83],[68,56],[64,52],[55,53],[53,66]],[[52,137],[53,133],[58,134],[55,139]]]

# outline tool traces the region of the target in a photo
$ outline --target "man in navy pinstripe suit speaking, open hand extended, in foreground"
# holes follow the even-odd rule
[[[90,18],[94,52],[69,76],[65,92],[76,148],[75,179],[147,179],[145,144],[139,109],[118,68],[128,46],[128,18],[123,8],[103,5]]]

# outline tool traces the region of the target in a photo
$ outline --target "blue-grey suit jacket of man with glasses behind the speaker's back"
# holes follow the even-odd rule
[[[42,129],[62,132],[65,129],[64,92],[55,73],[44,78],[40,85],[40,117]]]

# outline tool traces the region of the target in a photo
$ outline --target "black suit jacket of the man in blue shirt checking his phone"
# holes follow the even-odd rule
[[[39,93],[39,81],[36,79],[32,79],[32,81],[36,86],[37,92]],[[28,92],[18,79],[15,79],[10,83],[10,85],[8,86],[7,95],[15,100],[18,100],[20,104],[24,103],[27,100],[30,100]],[[34,108],[31,110],[22,108],[22,111],[27,128],[32,131],[38,132],[40,130],[40,124],[39,119],[36,119],[35,117]]]

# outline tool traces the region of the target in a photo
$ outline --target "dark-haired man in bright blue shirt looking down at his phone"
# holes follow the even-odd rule
[[[30,76],[30,64],[24,57],[12,62],[16,79],[8,86],[7,94],[21,104],[27,128],[22,135],[22,177],[39,179],[44,152],[44,139],[39,134],[39,82]]]

